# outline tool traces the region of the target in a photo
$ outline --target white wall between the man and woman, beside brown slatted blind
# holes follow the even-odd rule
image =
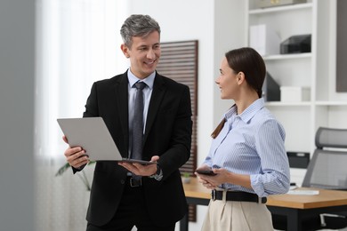
[[[198,40],[198,165],[210,146],[210,134],[232,102],[222,101],[214,79],[225,52],[242,46],[244,1],[238,0],[127,0],[129,14],[149,14],[160,24],[162,42]],[[238,20],[236,20],[238,19]],[[198,221],[190,230],[200,230],[206,206],[198,206]]]

